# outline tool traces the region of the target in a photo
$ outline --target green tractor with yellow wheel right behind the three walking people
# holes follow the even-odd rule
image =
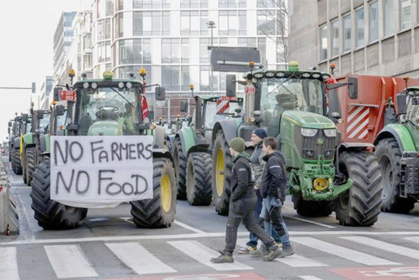
[[[336,129],[341,119],[327,112],[326,89],[330,106],[338,103],[334,89],[347,84],[326,85],[329,74],[300,71],[295,62],[288,70],[257,70],[244,77],[245,117],[217,122],[212,132],[216,212],[227,214],[229,208],[230,139],[240,136],[250,146],[253,129],[263,127],[287,159],[288,193],[298,214],[326,216],[335,211],[342,225],[373,225],[382,191],[376,157],[364,144],[341,143]],[[235,92],[235,83],[227,77],[227,90]],[[349,91],[357,92],[356,83]]]

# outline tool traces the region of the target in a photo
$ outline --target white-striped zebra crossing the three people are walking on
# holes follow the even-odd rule
[[[97,252],[87,253],[87,248],[81,244],[35,244],[36,255],[28,256],[25,254],[26,246],[1,246],[0,247],[0,279],[24,280],[19,273],[21,264],[19,257],[31,258],[34,266],[42,266],[39,262],[47,260],[48,266],[58,279],[64,278],[104,278],[101,275],[101,268],[108,265],[106,262],[97,261],[103,255],[112,255],[116,263],[111,264],[112,269],[124,268],[136,275],[165,274],[181,275],[190,273],[183,271],[185,267],[197,266],[199,270],[206,272],[220,271],[255,271],[261,266],[270,269],[283,270],[284,268],[310,268],[328,269],[336,267],[335,260],[342,261],[341,267],[351,266],[412,266],[419,259],[419,237],[398,236],[404,244],[409,246],[397,245],[399,242],[386,242],[379,238],[369,238],[364,236],[336,236],[334,239],[321,237],[293,237],[291,242],[294,244],[297,254],[276,259],[273,263],[263,263],[260,258],[253,258],[249,255],[236,255],[235,262],[231,264],[213,264],[209,260],[219,253],[213,249],[213,243],[204,239],[182,240],[182,241],[159,241],[158,246],[161,250],[150,250],[152,245],[147,241],[136,242],[95,242],[94,250]],[[245,246],[247,239],[238,239],[237,246]],[[212,241],[214,242],[214,241]],[[336,243],[340,245],[336,245]],[[224,240],[216,239],[217,246],[224,245]],[[360,247],[359,245],[362,245]],[[93,246],[93,245],[91,245]],[[91,248],[91,247],[89,247]],[[362,250],[356,250],[362,248]],[[308,249],[308,250],[307,250]],[[315,256],[313,257],[313,252]],[[319,257],[320,253],[320,257]],[[390,254],[388,254],[390,253]],[[45,257],[44,257],[45,256]],[[96,260],[92,259],[97,258]],[[330,258],[332,256],[332,258]],[[400,260],[397,256],[404,256]],[[333,262],[331,262],[333,259]],[[406,261],[409,259],[411,261]],[[106,263],[106,264],[105,264]],[[180,264],[179,264],[180,263]],[[180,268],[180,269],[179,269]],[[304,279],[314,279],[311,275],[301,276]],[[37,279],[36,274],[32,279]]]

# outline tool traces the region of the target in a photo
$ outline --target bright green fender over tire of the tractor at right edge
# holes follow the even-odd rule
[[[416,151],[412,136],[409,130],[401,124],[390,124],[385,126],[375,138],[374,144],[378,144],[385,138],[394,138],[397,141],[398,147],[401,152]]]

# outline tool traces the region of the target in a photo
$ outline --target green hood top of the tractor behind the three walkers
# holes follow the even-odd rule
[[[336,128],[336,125],[329,118],[315,113],[305,111],[285,111],[282,116],[291,123],[303,128]]]

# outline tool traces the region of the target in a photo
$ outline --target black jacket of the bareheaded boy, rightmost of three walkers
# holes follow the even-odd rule
[[[263,159],[266,165],[262,175],[262,197],[269,195],[284,202],[287,193],[286,159],[280,151],[265,155]]]

